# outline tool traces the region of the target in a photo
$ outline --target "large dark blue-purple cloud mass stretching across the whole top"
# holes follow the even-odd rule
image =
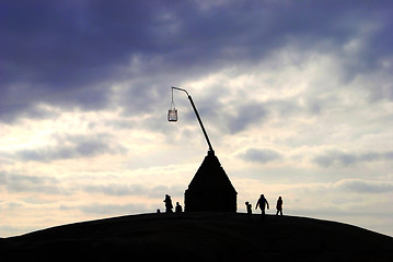
[[[162,86],[288,46],[338,52],[350,79],[378,70],[393,46],[389,1],[3,1],[0,10],[5,122],[48,117],[34,114],[39,104],[104,109],[114,103],[112,84],[129,80],[120,106],[152,110]],[[369,23],[375,29],[361,38],[361,52],[340,53]]]

